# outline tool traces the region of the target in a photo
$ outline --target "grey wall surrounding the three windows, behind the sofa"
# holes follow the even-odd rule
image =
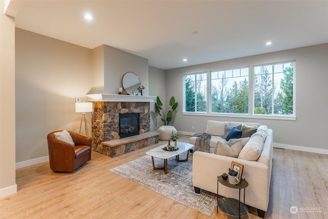
[[[252,68],[253,65],[293,60],[296,60],[296,121],[182,115],[183,74],[244,66]],[[273,129],[273,141],[278,146],[310,147],[318,149],[314,149],[315,152],[326,152],[327,144],[322,139],[328,124],[325,115],[328,109],[327,69],[328,44],[322,44],[167,70],[166,96],[174,95],[180,104],[174,126],[177,130],[194,133],[204,132],[208,120],[259,122]]]

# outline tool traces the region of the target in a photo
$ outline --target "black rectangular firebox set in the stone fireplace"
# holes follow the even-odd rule
[[[119,137],[139,134],[139,113],[119,113]]]

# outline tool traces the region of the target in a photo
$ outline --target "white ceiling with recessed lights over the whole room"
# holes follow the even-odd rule
[[[12,1],[17,28],[90,49],[105,44],[165,70],[328,43],[326,0]]]

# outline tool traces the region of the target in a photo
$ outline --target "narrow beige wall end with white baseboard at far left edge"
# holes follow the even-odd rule
[[[0,1],[0,197],[16,193],[15,22]]]

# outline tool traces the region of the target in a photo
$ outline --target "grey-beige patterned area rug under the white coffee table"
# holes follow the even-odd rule
[[[180,155],[180,159],[184,158]],[[162,167],[163,159],[154,157],[155,166]],[[165,195],[172,200],[211,216],[216,207],[216,194],[201,191],[195,193],[192,184],[192,156],[188,162],[177,162],[175,157],[168,159],[168,174],[163,170],[153,170],[152,158],[149,155],[123,164],[110,170],[113,173],[129,178],[135,183]]]

